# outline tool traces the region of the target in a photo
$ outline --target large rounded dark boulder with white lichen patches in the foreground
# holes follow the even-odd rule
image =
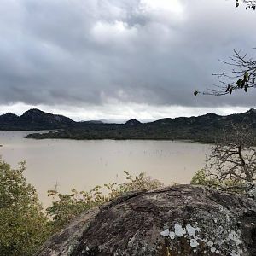
[[[256,202],[190,185],[137,191],[85,212],[46,255],[256,255]]]

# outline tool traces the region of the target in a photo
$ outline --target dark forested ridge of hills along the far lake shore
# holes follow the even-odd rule
[[[256,134],[256,109],[224,116],[207,113],[197,117],[164,118],[147,123],[130,119],[125,124],[108,124],[95,120],[76,122],[39,109],[30,109],[20,116],[13,113],[0,116],[0,130],[57,130],[27,136],[37,139],[154,139],[212,143],[221,137],[224,130],[230,129],[231,123],[251,125],[253,133]]]

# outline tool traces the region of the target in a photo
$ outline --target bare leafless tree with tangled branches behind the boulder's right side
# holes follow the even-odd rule
[[[207,177],[221,189],[245,189],[256,180],[255,136],[248,125],[230,125],[221,142],[207,155]],[[214,183],[216,185],[216,183]]]

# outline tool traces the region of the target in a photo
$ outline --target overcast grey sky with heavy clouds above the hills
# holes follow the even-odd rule
[[[256,90],[193,96],[233,49],[255,56],[235,0],[0,0],[0,113],[160,119],[256,108]]]

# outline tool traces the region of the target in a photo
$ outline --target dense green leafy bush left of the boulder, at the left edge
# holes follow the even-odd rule
[[[17,170],[0,160],[0,255],[32,255],[49,236],[48,219],[32,185],[26,183],[25,162]]]

